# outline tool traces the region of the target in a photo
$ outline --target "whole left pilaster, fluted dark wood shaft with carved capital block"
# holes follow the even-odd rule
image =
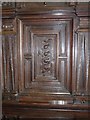
[[[18,44],[16,19],[3,19],[2,25],[2,60],[3,60],[3,97],[9,99],[18,93]],[[15,97],[15,96],[14,96]]]

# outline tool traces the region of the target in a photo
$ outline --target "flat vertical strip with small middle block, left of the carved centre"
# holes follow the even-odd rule
[[[32,51],[31,51],[31,31],[28,26],[24,26],[24,87],[30,87],[32,81]]]

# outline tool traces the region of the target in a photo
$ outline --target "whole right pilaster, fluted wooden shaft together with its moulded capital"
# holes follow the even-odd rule
[[[89,29],[87,17],[80,18],[74,33],[73,92],[89,95]],[[75,83],[74,83],[75,82]]]

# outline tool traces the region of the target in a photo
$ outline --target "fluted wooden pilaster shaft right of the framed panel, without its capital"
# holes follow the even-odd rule
[[[75,88],[77,95],[88,95],[89,93],[89,39],[87,31],[77,33],[75,39]]]

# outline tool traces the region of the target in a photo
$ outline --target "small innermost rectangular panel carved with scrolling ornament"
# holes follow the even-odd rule
[[[56,77],[56,35],[36,34],[33,36],[35,77],[48,77],[48,79],[57,79]]]

